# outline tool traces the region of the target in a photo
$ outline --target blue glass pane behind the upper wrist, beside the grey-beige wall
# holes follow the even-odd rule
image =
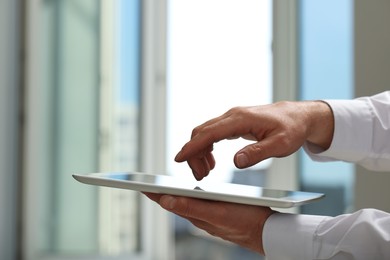
[[[300,2],[301,98],[353,97],[353,1]],[[332,15],[330,15],[332,14]],[[326,198],[303,213],[338,215],[352,205],[353,166],[316,163],[302,153],[302,188]]]

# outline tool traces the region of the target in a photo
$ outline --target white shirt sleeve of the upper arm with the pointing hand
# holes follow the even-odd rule
[[[354,100],[326,100],[335,129],[331,146],[323,151],[307,142],[315,161],[341,160],[376,171],[390,169],[390,91]]]

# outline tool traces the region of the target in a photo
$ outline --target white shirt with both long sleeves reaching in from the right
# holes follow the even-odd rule
[[[305,144],[309,156],[390,172],[390,91],[326,102],[335,118],[332,144],[326,151]],[[267,260],[390,259],[390,214],[375,209],[337,217],[276,213],[264,225],[263,246]]]

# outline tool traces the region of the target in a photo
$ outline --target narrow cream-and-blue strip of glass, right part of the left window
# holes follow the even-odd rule
[[[102,76],[100,171],[138,168],[140,2],[104,1],[101,9]],[[110,8],[111,7],[111,8]],[[111,24],[111,27],[109,26]],[[103,57],[104,55],[104,57]],[[99,191],[99,249],[123,254],[139,250],[139,194]]]

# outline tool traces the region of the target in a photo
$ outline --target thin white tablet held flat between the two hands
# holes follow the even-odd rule
[[[321,193],[198,182],[168,175],[133,172],[73,174],[73,177],[79,182],[97,186],[277,208],[300,206],[324,197]]]

